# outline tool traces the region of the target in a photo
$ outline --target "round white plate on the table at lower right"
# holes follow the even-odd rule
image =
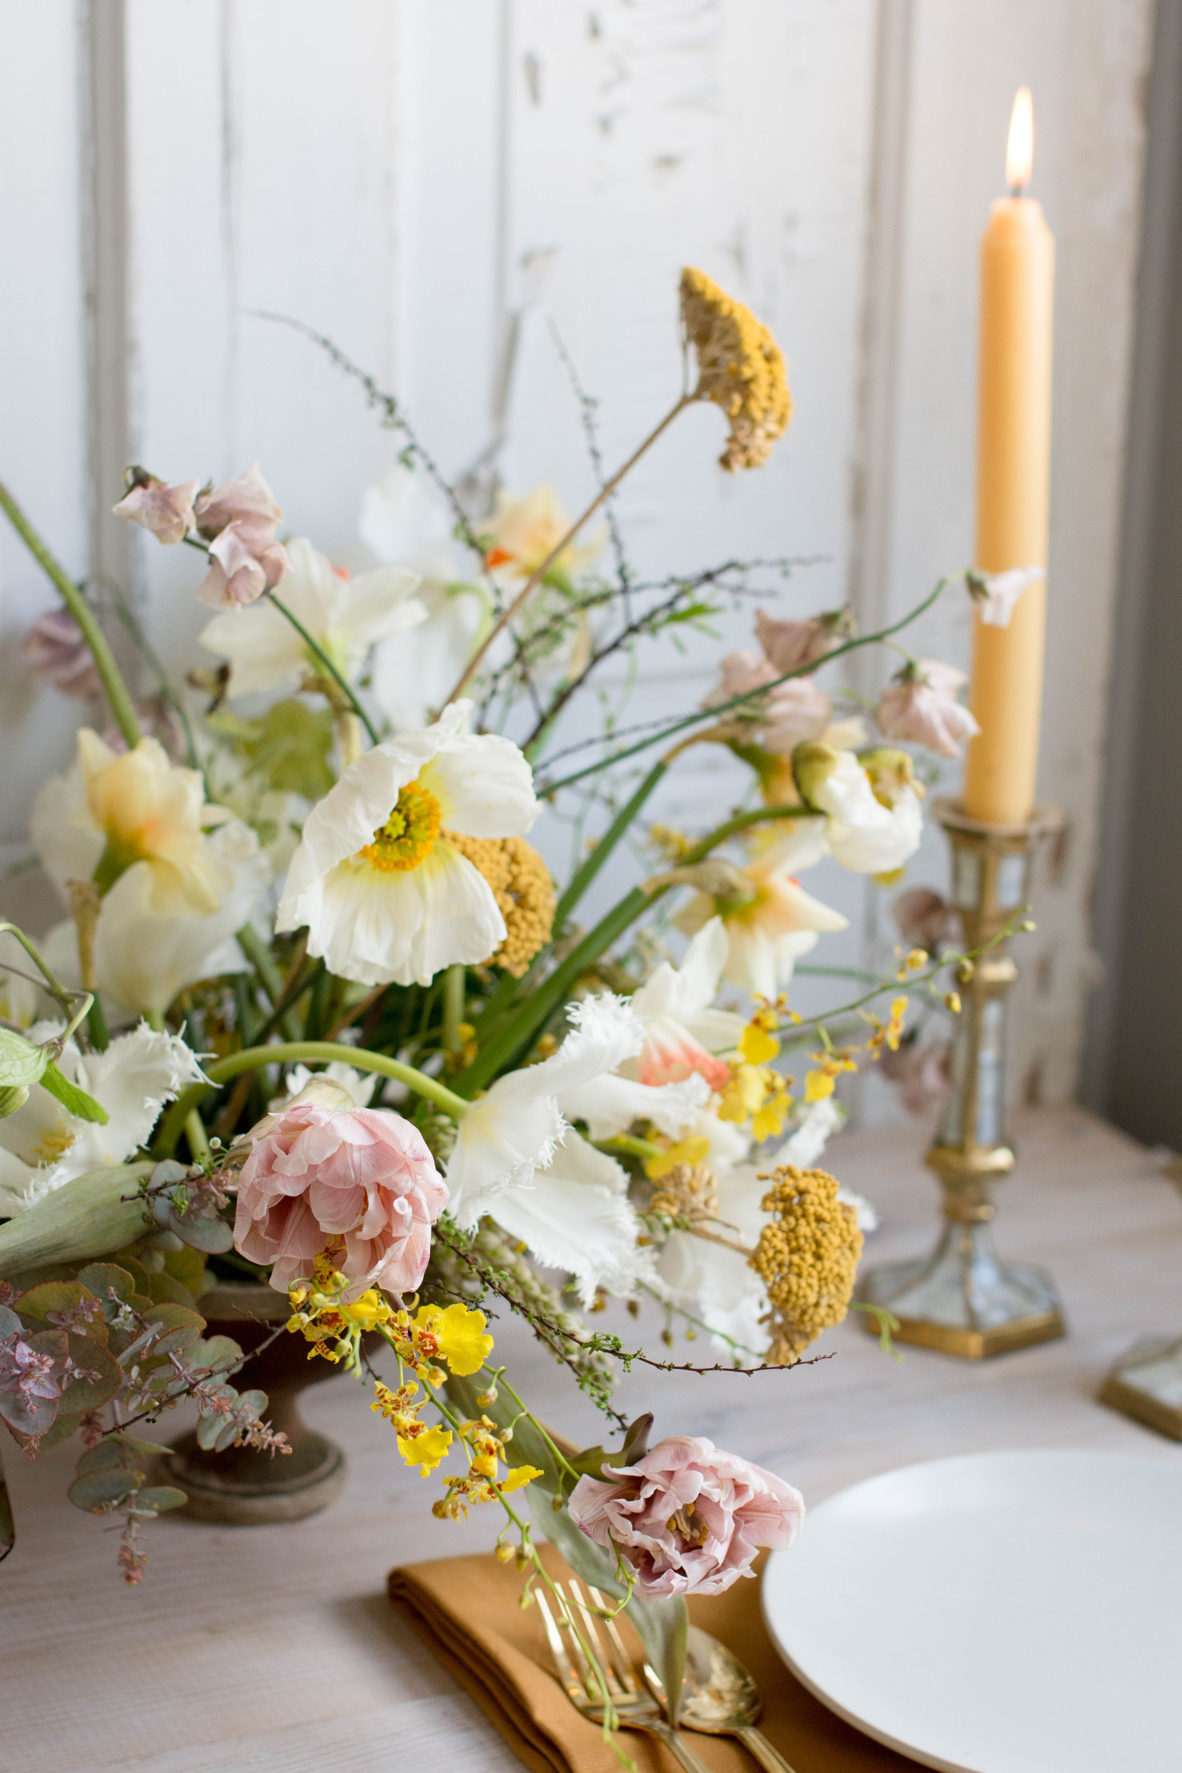
[[[1182,1773],[1182,1454],[996,1452],[854,1484],[764,1571],[817,1699],[943,1773]]]

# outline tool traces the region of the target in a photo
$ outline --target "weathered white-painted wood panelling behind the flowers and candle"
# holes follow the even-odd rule
[[[1058,239],[1051,640],[1042,793],[1069,814],[1023,950],[1014,1089],[1070,1094],[1090,984],[1104,697],[1138,262],[1150,0],[5,0],[0,473],[71,571],[131,585],[188,665],[195,562],[108,516],[126,461],[170,479],[259,459],[298,534],[356,551],[392,443],[296,333],[333,335],[399,392],[448,473],[576,505],[590,484],[546,324],[624,456],[677,387],[675,284],[702,264],[771,323],[796,395],[769,468],[714,468],[693,411],[627,484],[645,571],[817,557],[783,596],[863,626],[969,558],[976,238],[1010,101],[1035,92],[1035,193]],[[147,546],[144,546],[147,543]],[[0,535],[2,851],[71,755],[76,704],[19,640],[53,603]],[[743,644],[746,615],[727,626]],[[950,601],[921,651],[962,663]],[[691,706],[723,651],[642,663],[643,711]],[[877,690],[884,663],[859,667]],[[661,808],[727,803],[688,754]],[[948,771],[943,791],[955,789]],[[911,879],[939,885],[932,832]],[[884,906],[829,963],[883,952]],[[4,908],[46,917],[32,871]],[[820,956],[819,956],[820,957]],[[817,986],[812,984],[810,991]],[[886,1110],[877,1080],[863,1113]]]

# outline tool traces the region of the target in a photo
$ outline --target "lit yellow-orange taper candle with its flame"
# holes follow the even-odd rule
[[[1051,479],[1054,238],[1026,197],[1033,161],[1030,89],[1014,99],[1007,183],[980,257],[976,566],[1046,567]],[[989,612],[987,612],[989,613]],[[1035,803],[1046,578],[1021,592],[1005,626],[973,619],[969,707],[980,723],[964,769],[964,810],[1021,824]]]

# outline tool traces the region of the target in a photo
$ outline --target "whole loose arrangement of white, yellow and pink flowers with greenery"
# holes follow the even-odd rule
[[[149,1480],[142,1422],[190,1399],[202,1447],[284,1454],[264,1394],[232,1383],[241,1347],[206,1335],[207,1289],[243,1277],[287,1294],[275,1335],[353,1372],[406,1464],[441,1473],[436,1516],[500,1509],[498,1555],[528,1583],[546,1582],[540,1527],[633,1612],[668,1691],[684,1596],[728,1587],[799,1528],[782,1479],[696,1436],[649,1447],[652,1417],[626,1424],[613,1378],[771,1374],[845,1316],[870,1209],[817,1167],[835,1087],[900,1053],[916,993],[955,1014],[941,975],[973,959],[941,957],[946,917],[913,894],[923,940],[801,1019],[794,966],[845,918],[799,876],[833,856],[898,878],[921,835],[906,746],[955,757],[975,723],[962,674],[932,660],[904,654],[872,739],[865,709],[817,681],[893,645],[946,582],[865,637],[845,610],[758,606],[753,649],[679,718],[624,723],[597,702],[606,660],[709,633],[792,567],[649,583],[629,564],[611,495],[686,406],[721,408],[725,472],[758,468],[790,417],[755,316],[689,269],[680,317],[686,387],[611,479],[576,385],[599,473],[576,521],[549,488],[473,511],[328,340],[402,449],[365,496],[370,571],[280,539],[257,466],[218,488],[129,470],[117,514],[191,548],[214,612],[214,663],[184,684],[119,590],[76,585],[0,489],[62,596],[30,663],[105,699],[32,816],[62,920],[37,941],[4,926],[0,1417],[30,1456],[78,1438],[69,1496],[122,1518],[128,1582],[144,1523],[186,1500]],[[969,590],[1005,594],[980,576]],[[149,697],[99,615],[128,628]],[[743,803],[700,832],[647,823],[705,743],[748,766]],[[542,816],[574,833],[562,890],[530,842]],[[603,904],[626,839],[650,860]],[[689,938],[680,961],[670,927]],[[615,1452],[530,1411],[494,1360],[489,1296],[624,1434]],[[592,1330],[583,1312],[606,1296],[638,1324],[642,1305],[656,1314],[663,1346]],[[679,1323],[711,1340],[709,1367],[672,1358]]]

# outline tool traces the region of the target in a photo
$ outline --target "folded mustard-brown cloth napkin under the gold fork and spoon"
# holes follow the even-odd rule
[[[571,1571],[542,1546],[549,1576]],[[509,1746],[533,1773],[620,1773],[595,1723],[581,1718],[553,1675],[537,1606],[521,1608],[525,1578],[512,1564],[482,1557],[436,1558],[390,1573],[390,1599]],[[789,1674],[764,1629],[758,1582],[735,1582],[727,1594],[689,1601],[689,1619],[746,1663],[764,1697],[760,1729],[796,1773],[914,1773],[914,1761],[842,1723]],[[620,1629],[634,1661],[640,1640]],[[861,1631],[851,1619],[851,1633]],[[688,1732],[711,1773],[751,1773],[755,1762],[732,1736]],[[652,1736],[626,1730],[622,1745],[642,1773],[670,1773],[673,1761]]]

